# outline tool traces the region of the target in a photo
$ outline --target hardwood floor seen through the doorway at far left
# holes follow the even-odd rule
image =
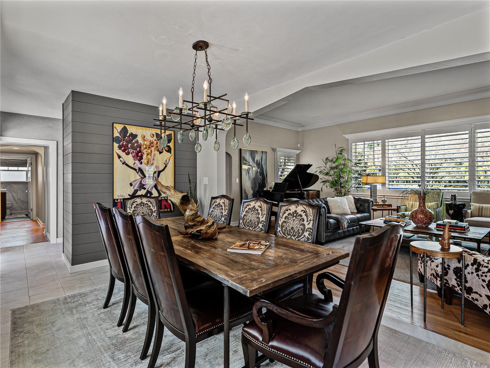
[[[44,227],[35,220],[0,223],[0,247],[49,241]]]

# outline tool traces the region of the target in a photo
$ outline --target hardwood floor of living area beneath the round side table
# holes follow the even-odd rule
[[[347,267],[337,264],[328,269],[345,279]],[[334,296],[340,297],[342,290],[326,282]],[[313,286],[316,289],[316,275]],[[435,290],[427,289],[427,321],[423,321],[423,288],[414,285],[414,309],[410,307],[410,284],[393,280],[384,315],[409,322],[439,335],[463,342],[490,353],[490,315],[483,312],[468,299],[465,300],[465,326],[461,325],[461,298],[454,296],[453,304],[444,304]]]

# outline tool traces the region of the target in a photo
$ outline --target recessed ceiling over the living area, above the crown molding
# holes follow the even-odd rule
[[[400,108],[410,110],[411,105],[427,100],[444,105],[475,96],[490,96],[490,61],[320,89],[273,108],[257,120],[304,130],[383,116]]]

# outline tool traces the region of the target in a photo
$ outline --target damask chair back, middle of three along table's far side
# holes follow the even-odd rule
[[[272,202],[264,198],[251,198],[242,201],[238,227],[269,233]]]

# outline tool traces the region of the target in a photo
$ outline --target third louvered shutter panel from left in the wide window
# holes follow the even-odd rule
[[[425,185],[468,190],[469,132],[432,132],[425,132]]]

